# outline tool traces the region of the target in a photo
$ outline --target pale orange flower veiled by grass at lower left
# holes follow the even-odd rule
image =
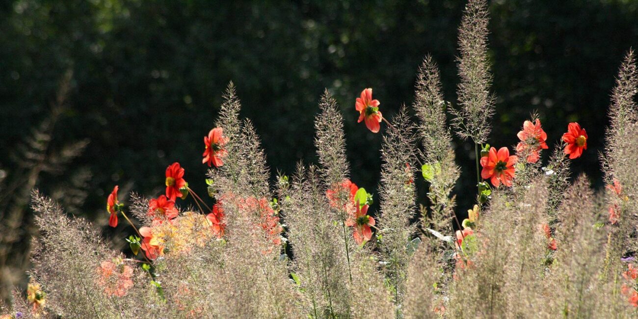
[[[133,267],[126,265],[122,258],[101,262],[97,271],[100,275],[98,284],[109,296],[124,297],[133,286]]]

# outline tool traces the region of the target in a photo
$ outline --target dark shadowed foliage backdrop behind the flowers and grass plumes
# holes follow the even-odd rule
[[[440,65],[447,100],[456,102],[463,7],[464,1],[452,0],[3,1],[0,218],[27,184],[19,145],[50,117],[69,71],[50,149],[85,138],[89,145],[64,172],[43,171],[34,184],[52,193],[77,168],[89,170],[86,200],[74,212],[101,225],[114,184],[156,196],[174,161],[186,168],[191,187],[205,193],[202,137],[230,81],[242,116],[262,137],[273,175],[293,172],[299,160],[316,162],[313,119],[320,94],[330,89],[346,118],[352,180],[376,193],[382,135],[356,123],[354,100],[373,87],[391,121],[402,103],[412,103],[417,67],[429,53]],[[609,94],[623,54],[638,45],[638,2],[498,0],[490,12],[498,97],[490,144],[516,144],[517,131],[535,110],[552,145],[568,122],[578,121],[590,133],[590,149],[574,161],[575,172],[600,186]],[[474,200],[473,145],[458,141],[456,148],[463,170],[457,211],[463,214]],[[424,198],[421,193],[419,202],[426,204]],[[33,230],[25,211],[15,229],[3,223],[3,232],[20,235],[0,242],[0,262],[26,251]]]

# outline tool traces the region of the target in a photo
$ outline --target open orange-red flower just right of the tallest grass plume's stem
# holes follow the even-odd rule
[[[483,167],[480,175],[484,179],[490,179],[490,182],[495,187],[498,187],[501,182],[505,186],[512,186],[512,179],[514,179],[514,164],[518,161],[516,155],[510,156],[510,150],[507,147],[501,147],[496,152],[494,147],[490,147],[487,156],[483,156],[480,159],[480,165]]]

